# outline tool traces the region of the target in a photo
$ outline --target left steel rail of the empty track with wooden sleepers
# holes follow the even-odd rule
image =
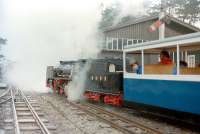
[[[20,134],[20,130],[19,130],[19,123],[18,123],[18,119],[17,119],[17,111],[15,108],[15,97],[13,94],[13,90],[10,90],[11,92],[11,98],[12,98],[12,107],[13,107],[13,118],[14,118],[14,127],[15,127],[15,134]]]

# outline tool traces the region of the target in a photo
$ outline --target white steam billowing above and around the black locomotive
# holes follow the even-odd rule
[[[121,17],[143,10],[142,1],[120,0]],[[8,39],[3,49],[9,61],[6,80],[24,90],[43,92],[47,66],[95,57],[102,2],[108,6],[113,0],[1,0],[0,30]],[[68,90],[71,100],[81,96],[84,78],[79,76],[87,69],[69,84],[68,89],[74,88]]]

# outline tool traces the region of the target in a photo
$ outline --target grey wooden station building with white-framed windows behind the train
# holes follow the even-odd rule
[[[159,40],[159,30],[154,32],[149,31],[149,27],[158,19],[159,15],[141,17],[135,20],[129,20],[116,26],[105,28],[103,30],[103,49],[99,54],[99,57],[122,58],[122,51],[126,46]],[[167,21],[164,26],[165,38],[200,32],[199,28],[184,23],[175,17],[167,15],[166,19]],[[182,52],[182,58],[185,58],[185,53],[186,52]],[[197,59],[200,59],[200,55],[197,54],[196,57]]]

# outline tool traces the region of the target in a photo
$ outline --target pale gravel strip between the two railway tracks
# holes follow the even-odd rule
[[[121,134],[97,118],[67,105],[64,97],[52,94],[35,97],[48,120],[56,124],[58,134]]]

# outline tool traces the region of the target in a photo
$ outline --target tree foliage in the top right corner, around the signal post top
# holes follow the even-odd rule
[[[200,20],[200,0],[165,0],[162,5],[166,13],[178,19],[194,24]],[[161,4],[154,4],[149,7],[149,15],[158,14]]]

